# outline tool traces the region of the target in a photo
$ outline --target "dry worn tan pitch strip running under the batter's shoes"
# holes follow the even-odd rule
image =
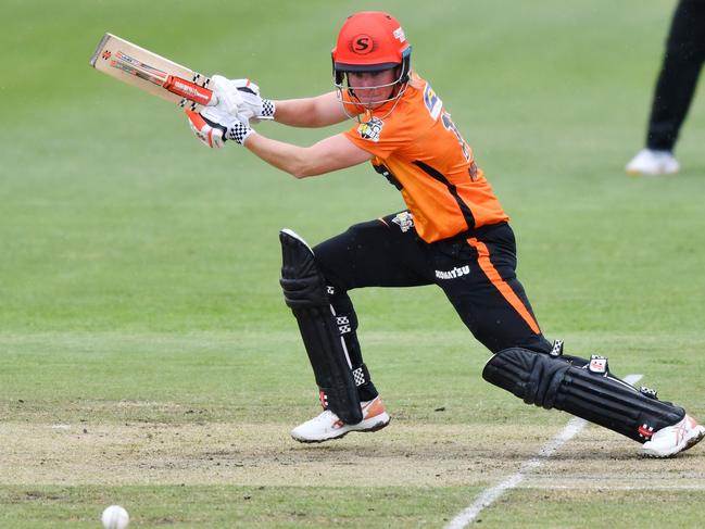
[[[286,425],[0,425],[0,484],[491,486],[536,457],[554,431],[529,426],[392,423],[325,444]],[[521,487],[705,489],[705,451],[646,459],[588,427]]]

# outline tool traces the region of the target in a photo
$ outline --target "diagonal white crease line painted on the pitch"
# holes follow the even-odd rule
[[[643,375],[627,375],[625,377],[625,382],[635,383],[641,379],[641,377],[643,377]],[[482,512],[484,507],[489,507],[506,491],[517,487],[521,481],[524,481],[527,474],[530,474],[532,470],[543,465],[543,462],[551,457],[556,450],[580,433],[586,425],[587,423],[581,418],[575,417],[570,419],[566,427],[556,437],[541,446],[541,450],[539,450],[536,457],[525,461],[519,467],[519,471],[515,475],[509,476],[500,484],[491,487],[480,493],[470,505],[448,522],[445,529],[463,529],[466,527]]]

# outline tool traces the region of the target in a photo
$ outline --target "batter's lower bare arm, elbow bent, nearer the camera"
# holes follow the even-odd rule
[[[298,147],[251,134],[246,149],[295,178],[323,175],[369,161],[373,155],[354,144],[343,134],[331,136],[311,147]]]

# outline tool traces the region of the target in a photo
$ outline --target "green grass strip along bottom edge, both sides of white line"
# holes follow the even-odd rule
[[[12,487],[0,490],[0,521],[29,514],[34,528],[93,528],[105,505],[117,497],[139,508],[136,527],[293,528],[293,527],[440,527],[445,509],[462,509],[473,491],[457,488],[349,488],[292,491],[287,487]],[[700,492],[541,491],[514,492],[488,508],[481,527],[631,528],[634,522],[698,527]],[[645,501],[654,502],[644,509]],[[595,503],[608,516],[595,517]],[[430,513],[430,514],[429,514]]]

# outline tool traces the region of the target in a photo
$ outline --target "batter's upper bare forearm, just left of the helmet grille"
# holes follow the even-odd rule
[[[274,119],[292,127],[327,127],[349,118],[336,92],[274,101]]]

